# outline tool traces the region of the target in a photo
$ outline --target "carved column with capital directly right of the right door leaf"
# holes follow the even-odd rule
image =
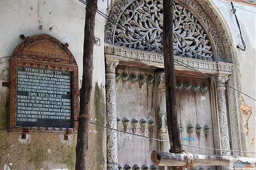
[[[227,103],[226,103],[226,83],[228,76],[216,76],[216,90],[218,99],[219,110],[219,127],[220,127],[220,140],[221,149],[230,150],[229,144],[229,131],[228,131],[228,119],[227,119]],[[222,151],[222,155],[230,155],[229,151]]]

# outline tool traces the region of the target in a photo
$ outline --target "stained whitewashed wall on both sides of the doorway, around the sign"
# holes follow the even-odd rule
[[[218,0],[211,1],[226,23],[227,30],[230,34],[230,39],[233,42],[233,50],[235,53],[234,62],[236,63],[236,85],[241,91],[255,98],[255,13],[248,12],[237,8],[237,15],[240,21],[242,35],[246,43],[246,51],[243,52],[236,48],[237,45],[242,45],[239,35],[238,26],[234,15],[231,13],[231,6],[224,4]],[[255,8],[234,3],[241,8],[255,11]],[[98,9],[106,13],[107,1],[99,0]],[[2,82],[9,81],[9,59],[16,47],[22,40],[19,35],[31,36],[34,34],[47,33],[54,36],[62,43],[69,44],[69,50],[75,57],[79,67],[79,79],[82,74],[82,48],[83,48],[83,28],[85,19],[85,6],[78,0],[2,0],[0,1],[0,128],[7,127],[7,96],[8,87],[3,87]],[[100,39],[100,46],[95,46],[94,49],[94,71],[93,71],[93,95],[92,95],[92,119],[99,124],[105,125],[105,76],[104,76],[104,21],[105,18],[96,14],[95,37]],[[39,26],[42,28],[39,29]],[[52,29],[50,30],[49,28]],[[255,101],[247,98],[245,95],[238,93],[238,108],[240,110],[240,124],[242,134],[243,150],[255,152]],[[251,108],[251,114],[250,114]],[[248,128],[247,124],[248,123]],[[248,130],[247,130],[248,129]],[[26,156],[31,153],[48,152],[48,148],[55,151],[51,155],[46,155],[45,159],[40,160],[40,167],[44,168],[69,168],[74,166],[74,149],[76,136],[70,143],[63,143],[59,136],[46,134],[32,134],[31,140],[26,141],[27,145],[18,140],[18,134],[8,134],[0,132],[0,148],[6,146],[5,149],[0,149],[0,169],[5,164],[13,167],[35,167],[35,162],[26,159]],[[105,169],[105,130],[94,125],[89,127],[89,169]],[[50,139],[49,139],[49,136]],[[102,137],[103,136],[103,137]],[[40,141],[37,140],[40,139]],[[46,141],[49,144],[45,146]],[[28,150],[28,143],[34,146],[34,150]],[[70,162],[59,161],[69,160],[62,150],[56,148],[61,145],[67,154],[70,156]],[[42,148],[42,151],[38,150]],[[17,152],[19,151],[19,152]],[[25,153],[25,154],[24,154]],[[9,157],[6,156],[9,154]],[[64,154],[65,156],[60,156]],[[34,154],[35,156],[37,154]],[[32,156],[34,156],[32,155]],[[57,156],[56,156],[57,155]],[[31,156],[31,157],[32,157]],[[56,157],[54,157],[56,156]],[[254,157],[255,155],[247,155]],[[15,157],[15,158],[14,158]],[[21,161],[24,157],[25,161]],[[53,158],[52,158],[53,157]],[[35,160],[36,161],[36,160]]]

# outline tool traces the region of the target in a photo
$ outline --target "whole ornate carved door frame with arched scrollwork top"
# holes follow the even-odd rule
[[[129,19],[129,17],[134,18],[136,10],[144,9],[144,13],[146,15],[143,15],[143,12],[139,13],[135,17],[137,18],[137,21],[135,22],[143,23],[143,26],[148,24],[148,22],[151,22],[148,21],[148,18],[146,18],[151,15],[150,12],[146,11],[146,4],[151,4],[151,1],[153,2],[153,0],[116,0],[113,3],[113,8],[109,13],[111,19],[109,18],[106,20],[104,44],[106,58],[106,112],[107,126],[111,128],[116,128],[115,67],[118,64],[130,66],[139,65],[140,67],[144,68],[164,67],[163,56],[161,53],[159,53],[161,52],[161,37],[157,36],[159,34],[161,35],[161,19],[154,20],[154,17],[150,18],[153,19],[152,24],[154,24],[156,21],[158,22],[159,26],[158,28],[153,28],[153,30],[156,30],[156,37],[153,37],[153,39],[151,39],[152,42],[150,42],[154,44],[157,41],[158,47],[156,48],[152,48],[152,44],[149,46],[147,46],[146,43],[143,44],[143,41],[134,43],[136,40],[135,38],[127,37],[127,35],[125,35],[126,31],[132,33],[137,31],[137,34],[140,36],[147,34],[145,32],[138,31],[141,29],[133,27],[132,23],[134,22],[134,19]],[[157,1],[155,6],[159,8],[159,13],[157,13],[159,17],[157,18],[161,18],[161,0]],[[175,35],[181,37],[182,39],[182,37],[188,34],[188,32],[186,32],[184,35],[184,31],[188,31],[191,28],[197,27],[199,32],[195,31],[195,34],[200,33],[200,35],[204,37],[203,40],[195,39],[194,37],[193,42],[195,43],[186,41],[183,43],[186,44],[185,46],[176,46],[177,56],[175,56],[175,59],[179,62],[182,62],[183,64],[180,65],[176,63],[175,68],[184,71],[191,71],[188,67],[194,67],[204,74],[214,76],[210,80],[210,93],[214,94],[211,95],[211,104],[213,122],[216,127],[214,134],[215,139],[217,139],[215,140],[215,147],[226,150],[241,150],[241,136],[238,123],[236,92],[233,90],[233,87],[235,87],[233,81],[234,71],[232,64],[233,51],[232,44],[229,41],[229,36],[224,23],[221,20],[218,12],[208,1],[177,0],[174,4],[174,8],[177,11],[176,19],[178,23],[183,23],[183,25],[177,25]],[[188,20],[194,21],[191,22],[191,25],[189,26],[184,22],[179,22],[179,16],[181,15],[184,15],[184,17],[186,17]],[[118,24],[115,25],[113,20],[118,21]],[[122,31],[122,23],[127,23],[126,25],[123,24],[123,27],[126,29],[126,31]],[[179,28],[181,29],[180,32]],[[200,31],[200,29],[202,29],[204,32],[202,32],[202,30]],[[120,37],[123,37],[126,40],[123,41],[123,39]],[[141,39],[143,39],[143,37],[141,37]],[[178,41],[179,39],[177,40],[177,43],[180,44],[183,42],[182,40],[179,42]],[[206,51],[200,51],[200,49],[202,49],[200,47],[200,43],[202,42],[203,44],[201,47],[203,49],[207,49]],[[191,51],[189,50],[190,48],[192,49]],[[200,52],[193,49],[197,49]],[[228,86],[225,86],[225,84]],[[230,152],[222,152],[221,154],[230,154]],[[240,153],[232,154],[238,156],[240,155]],[[117,169],[118,160],[116,132],[112,130],[107,132],[107,157],[108,169]]]

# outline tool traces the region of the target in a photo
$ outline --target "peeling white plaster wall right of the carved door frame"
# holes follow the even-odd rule
[[[226,2],[226,1],[225,1]],[[236,88],[243,91],[244,93],[256,98],[256,54],[255,54],[255,30],[256,30],[256,14],[249,12],[256,12],[256,9],[250,6],[233,3],[234,6],[249,10],[243,10],[237,7],[237,17],[240,23],[242,36],[246,44],[246,50],[243,52],[236,46],[242,47],[242,41],[240,38],[239,29],[237,26],[236,18],[232,14],[229,2],[224,4],[218,0],[213,0],[213,3],[223,17],[223,21],[227,27],[230,35],[230,40],[233,44],[234,50],[234,65],[236,74]],[[256,152],[256,145],[254,144],[256,137],[256,103],[254,100],[247,96],[237,92],[238,112],[240,131],[242,136],[242,150]],[[242,154],[243,156],[255,157],[255,154]]]

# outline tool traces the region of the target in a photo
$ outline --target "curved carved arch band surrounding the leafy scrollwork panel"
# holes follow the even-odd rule
[[[113,37],[116,29],[114,21],[118,21],[123,11],[135,0],[116,0],[109,12],[109,19],[105,23],[105,43],[113,44]],[[187,8],[188,11],[197,16],[206,31],[212,47],[217,52],[215,61],[233,62],[232,44],[229,40],[224,22],[214,7],[204,0],[177,0],[178,4]]]

